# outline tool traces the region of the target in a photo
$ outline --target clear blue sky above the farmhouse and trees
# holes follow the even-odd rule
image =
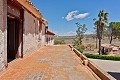
[[[57,35],[75,35],[76,22],[93,33],[93,18],[100,10],[109,13],[109,22],[120,21],[120,0],[31,0]]]

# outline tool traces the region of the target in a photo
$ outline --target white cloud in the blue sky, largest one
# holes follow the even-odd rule
[[[83,13],[83,14],[78,14],[78,10],[75,11],[71,11],[67,14],[67,16],[65,17],[67,21],[71,21],[73,19],[83,19],[85,17],[87,17],[89,15],[89,13]]]

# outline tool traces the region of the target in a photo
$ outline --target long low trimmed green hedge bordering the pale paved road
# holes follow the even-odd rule
[[[88,58],[93,58],[93,59],[120,61],[120,56],[104,56],[104,55],[95,55],[95,54],[84,54],[84,55]]]

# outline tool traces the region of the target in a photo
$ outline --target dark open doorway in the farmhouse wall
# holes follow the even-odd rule
[[[7,61],[17,57],[19,41],[19,19],[7,17]]]

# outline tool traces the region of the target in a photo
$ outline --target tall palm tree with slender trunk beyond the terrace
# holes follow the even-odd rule
[[[97,27],[97,37],[99,39],[99,54],[101,54],[101,40],[102,40],[102,34],[104,31],[104,27],[108,24],[108,13],[104,12],[104,10],[101,10],[98,13],[98,20],[95,20],[94,23]]]

